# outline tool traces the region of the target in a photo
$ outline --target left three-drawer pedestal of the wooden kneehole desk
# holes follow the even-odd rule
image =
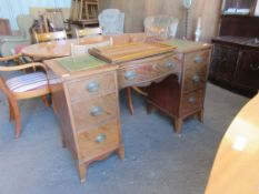
[[[67,58],[69,59],[69,58]],[[77,59],[73,59],[77,61]],[[117,65],[68,71],[60,60],[44,61],[63,146],[77,161],[81,182],[88,165],[112,152],[124,157],[121,141]],[[76,63],[74,63],[76,64]]]

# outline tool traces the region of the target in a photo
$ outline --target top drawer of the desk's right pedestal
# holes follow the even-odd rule
[[[185,65],[188,68],[199,68],[209,63],[210,50],[187,53],[185,57]]]

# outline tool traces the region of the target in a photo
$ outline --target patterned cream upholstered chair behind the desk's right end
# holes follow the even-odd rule
[[[153,16],[145,19],[145,32],[162,39],[175,38],[179,20],[171,16]]]

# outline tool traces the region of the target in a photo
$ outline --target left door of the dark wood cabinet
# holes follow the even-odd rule
[[[237,59],[238,48],[215,44],[210,64],[210,78],[230,83],[236,69]]]

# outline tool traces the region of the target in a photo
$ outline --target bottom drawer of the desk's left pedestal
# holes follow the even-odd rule
[[[92,127],[78,136],[80,155],[82,159],[93,159],[120,144],[120,129],[118,121],[111,121],[99,127]]]

